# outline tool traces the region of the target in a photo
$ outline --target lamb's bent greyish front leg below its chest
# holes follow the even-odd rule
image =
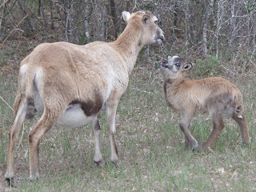
[[[179,123],[179,126],[183,132],[183,134],[185,134],[185,142],[189,142],[190,145],[192,146],[192,150],[196,151],[198,150],[198,142],[194,139],[194,137],[192,136],[192,134],[190,134],[190,122],[192,120],[194,116],[194,113],[187,113],[187,114],[183,114],[182,115],[182,119],[181,122]]]

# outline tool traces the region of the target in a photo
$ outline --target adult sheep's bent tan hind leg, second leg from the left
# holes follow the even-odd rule
[[[30,154],[30,180],[39,178],[39,142],[40,139],[54,125],[58,115],[45,108],[42,117],[30,131],[29,135],[29,154]]]

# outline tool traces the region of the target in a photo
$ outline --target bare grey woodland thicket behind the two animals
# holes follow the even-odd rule
[[[255,63],[255,0],[2,0],[0,42],[114,41],[126,25],[123,10],[158,17],[166,36],[161,57],[212,55],[245,68]]]

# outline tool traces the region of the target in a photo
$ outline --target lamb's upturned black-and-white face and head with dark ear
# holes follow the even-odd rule
[[[168,56],[168,60],[163,60],[161,69],[166,72],[170,78],[183,77],[184,72],[190,70],[193,65],[190,62],[184,63],[178,56]]]

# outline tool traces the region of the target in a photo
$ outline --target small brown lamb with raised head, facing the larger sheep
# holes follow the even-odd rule
[[[184,63],[178,56],[169,56],[168,61],[163,61],[161,65],[161,69],[168,75],[163,85],[166,102],[174,111],[182,114],[180,128],[185,134],[186,145],[190,144],[193,151],[198,150],[198,142],[190,134],[191,120],[197,110],[208,111],[213,122],[213,130],[200,150],[208,150],[221,134],[224,128],[222,114],[238,122],[242,142],[250,143],[242,94],[238,86],[219,77],[199,80],[185,78],[185,72],[192,67],[190,62]]]

